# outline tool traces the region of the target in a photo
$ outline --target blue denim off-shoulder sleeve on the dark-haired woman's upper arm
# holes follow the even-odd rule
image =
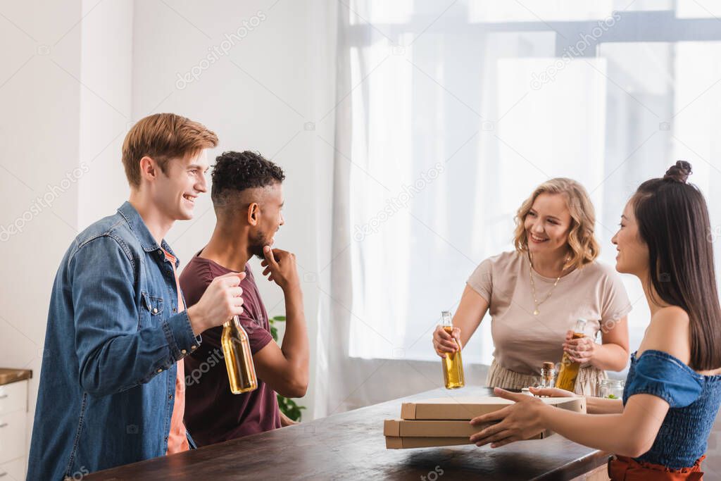
[[[671,407],[686,407],[703,389],[702,376],[677,358],[660,350],[646,350],[636,361],[628,397],[652,394]]]

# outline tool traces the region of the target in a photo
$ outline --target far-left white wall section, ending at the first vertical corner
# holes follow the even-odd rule
[[[2,14],[0,366],[32,369],[32,417],[50,290],[78,223],[77,181],[66,175],[79,164],[81,2],[17,2]]]

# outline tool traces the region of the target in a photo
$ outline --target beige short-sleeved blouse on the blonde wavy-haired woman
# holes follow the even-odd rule
[[[585,335],[596,338],[602,326],[616,325],[631,311],[631,303],[613,268],[591,262],[560,278],[553,293],[534,316],[528,256],[503,252],[481,262],[468,285],[489,302],[496,362],[521,374],[540,374],[544,361],[559,363],[566,332],[586,319]],[[556,278],[534,270],[536,299],[543,301]]]

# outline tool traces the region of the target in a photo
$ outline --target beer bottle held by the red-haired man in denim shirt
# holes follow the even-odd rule
[[[223,356],[226,359],[230,390],[233,394],[250,392],[258,387],[248,334],[237,316],[223,325],[221,336]]]

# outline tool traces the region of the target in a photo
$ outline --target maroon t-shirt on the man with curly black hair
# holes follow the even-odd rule
[[[200,251],[203,252],[203,251]],[[180,288],[187,306],[200,300],[219,275],[231,270],[196,254],[180,275]],[[265,306],[260,300],[250,266],[245,266],[243,314],[240,323],[248,333],[253,355],[273,342]],[[275,391],[258,379],[255,391],[233,394],[228,381],[221,335],[223,327],[203,332],[203,343],[185,356],[185,426],[198,446],[220,443],[249,434],[280,428],[280,410]]]

